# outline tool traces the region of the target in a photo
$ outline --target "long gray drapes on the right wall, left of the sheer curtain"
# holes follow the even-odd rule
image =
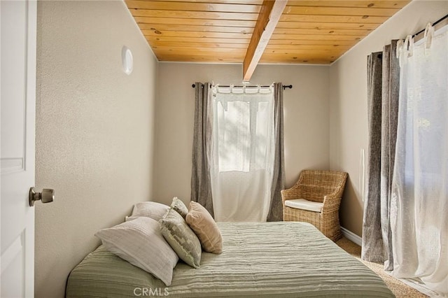
[[[369,155],[361,258],[393,269],[390,206],[398,119],[400,66],[396,41],[367,57]]]

